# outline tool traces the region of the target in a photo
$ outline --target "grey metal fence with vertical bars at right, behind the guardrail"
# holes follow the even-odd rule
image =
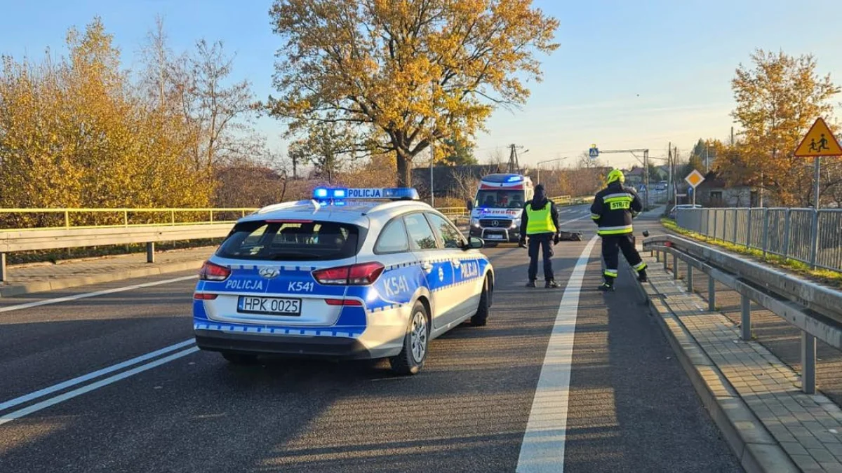
[[[764,258],[772,254],[842,271],[842,209],[679,209],[676,224],[759,250]]]

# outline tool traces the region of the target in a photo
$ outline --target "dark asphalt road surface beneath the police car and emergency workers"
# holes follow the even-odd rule
[[[588,215],[562,212],[587,232],[556,247],[562,289],[526,289],[525,250],[489,248],[488,326],[434,340],[407,378],[386,362],[243,368],[195,351],[191,274],[0,300],[0,471],[514,471],[562,312],[576,320],[564,471],[740,471],[628,276],[594,290],[598,241],[564,296],[578,305],[560,310]],[[15,308],[132,284],[157,285]]]

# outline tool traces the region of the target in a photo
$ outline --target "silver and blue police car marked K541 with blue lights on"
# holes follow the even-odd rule
[[[479,248],[415,189],[314,189],[237,221],[205,262],[196,344],[235,364],[388,357],[418,373],[430,340],[486,324],[494,272]]]

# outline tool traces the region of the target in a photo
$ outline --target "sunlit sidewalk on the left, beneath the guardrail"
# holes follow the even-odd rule
[[[99,284],[155,274],[198,270],[215,251],[199,247],[155,253],[155,263],[147,263],[147,254],[86,258],[53,263],[9,265],[6,281],[0,284],[0,297],[32,292],[67,289],[85,284]]]

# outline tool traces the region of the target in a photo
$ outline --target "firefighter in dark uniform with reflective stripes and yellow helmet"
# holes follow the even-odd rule
[[[646,281],[646,263],[637,252],[632,228],[632,219],[643,210],[643,205],[637,192],[623,185],[625,182],[626,177],[619,169],[608,173],[608,186],[596,194],[594,204],[590,206],[590,218],[599,226],[597,233],[602,237],[602,257],[605,258],[605,283],[600,285],[600,290],[614,290],[619,250],[637,271],[637,279]]]

